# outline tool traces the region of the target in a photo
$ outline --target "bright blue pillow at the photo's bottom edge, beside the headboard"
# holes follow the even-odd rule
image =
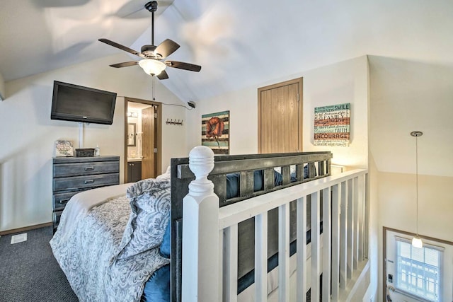
[[[144,284],[142,302],[170,302],[170,265],[151,274]]]

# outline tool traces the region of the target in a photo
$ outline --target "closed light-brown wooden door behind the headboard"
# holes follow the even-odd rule
[[[302,78],[258,88],[258,153],[302,151]]]

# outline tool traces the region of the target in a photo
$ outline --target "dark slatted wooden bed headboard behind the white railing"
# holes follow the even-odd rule
[[[236,156],[214,156],[214,169],[208,179],[214,183],[214,193],[219,197],[219,207],[225,207],[262,194],[282,190],[287,187],[310,182],[331,175],[330,151],[302,153],[251,154]],[[309,177],[304,178],[304,165],[309,167]],[[296,181],[291,182],[291,166],[296,168]],[[274,168],[281,168],[282,185],[275,186]],[[263,189],[253,192],[253,171],[263,170]],[[226,199],[226,175],[239,173],[239,196]],[[182,284],[182,238],[183,204],[188,194],[188,186],[195,175],[189,168],[189,158],[171,160],[171,301],[181,301]],[[269,212],[268,247],[272,257],[278,250],[277,209]],[[295,218],[295,211],[291,216]],[[238,262],[239,277],[253,274],[253,219],[239,223]],[[292,219],[295,223],[295,219]],[[294,236],[293,236],[294,237]],[[270,261],[270,257],[268,262]],[[253,280],[252,280],[253,281]],[[239,284],[241,279],[239,278]],[[240,290],[238,287],[238,291]],[[243,287],[243,286],[242,286]]]

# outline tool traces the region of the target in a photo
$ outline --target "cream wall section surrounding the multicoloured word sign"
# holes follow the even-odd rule
[[[357,57],[312,69],[304,77],[304,151],[332,151],[332,163],[368,166],[368,62]],[[350,145],[314,146],[314,108],[350,103]]]

